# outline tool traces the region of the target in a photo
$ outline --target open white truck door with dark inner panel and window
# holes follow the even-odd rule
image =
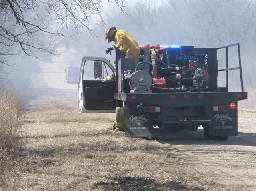
[[[114,113],[116,82],[102,82],[115,71],[109,60],[100,57],[83,57],[78,83],[80,113]]]

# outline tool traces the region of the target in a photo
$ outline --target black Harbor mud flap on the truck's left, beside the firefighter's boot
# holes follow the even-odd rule
[[[136,103],[124,101],[124,132],[126,137],[153,137],[153,117],[137,111]]]

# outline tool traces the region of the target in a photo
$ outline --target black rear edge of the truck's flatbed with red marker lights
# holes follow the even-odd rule
[[[200,98],[203,95],[203,98]],[[175,98],[171,98],[175,95]],[[189,95],[189,98],[184,98]],[[247,92],[115,93],[114,99],[161,107],[212,106],[247,99]]]

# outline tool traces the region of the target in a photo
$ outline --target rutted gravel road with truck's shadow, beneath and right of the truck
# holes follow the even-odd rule
[[[205,141],[203,129],[183,131],[157,141],[183,165],[194,166],[198,177],[230,188],[246,186],[256,190],[255,113],[239,112],[239,133],[228,141]],[[231,190],[231,189],[230,189]]]

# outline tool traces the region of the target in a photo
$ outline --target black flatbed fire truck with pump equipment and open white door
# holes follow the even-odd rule
[[[237,46],[238,67],[228,67],[228,48]],[[217,50],[226,49],[226,68],[218,69]],[[239,43],[220,48],[179,45],[140,46],[140,62],[116,50],[116,68],[105,58],[84,57],[78,82],[80,113],[114,113],[124,107],[127,137],[204,128],[205,139],[227,140],[238,133],[237,103],[247,99]],[[93,68],[93,70],[92,70]],[[228,72],[239,70],[241,91],[230,92]],[[218,87],[218,73],[226,86]],[[116,81],[102,82],[113,72]],[[89,78],[90,77],[90,78]]]

